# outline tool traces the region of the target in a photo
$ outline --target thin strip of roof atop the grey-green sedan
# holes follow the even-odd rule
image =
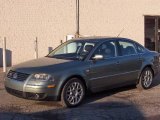
[[[105,36],[93,36],[93,37],[79,37],[79,38],[73,38],[72,40],[78,40],[78,41],[85,41],[85,42],[103,42],[106,40],[130,40],[127,38],[121,38],[121,37],[105,37]]]

